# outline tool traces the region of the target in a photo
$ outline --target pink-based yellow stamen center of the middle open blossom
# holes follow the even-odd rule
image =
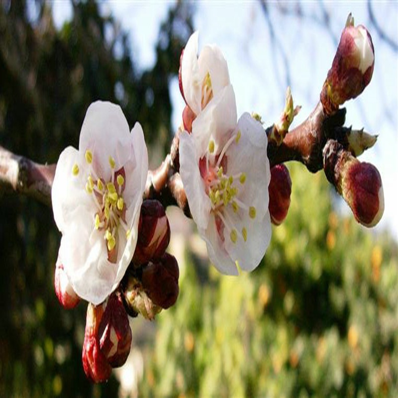
[[[211,201],[211,211],[215,216],[217,232],[224,241],[224,230],[226,230],[233,243],[237,242],[239,235],[246,242],[247,229],[243,227],[238,235],[231,216],[225,211],[227,206],[231,206],[234,213],[246,212],[250,218],[256,217],[256,208],[238,199],[239,190],[246,182],[246,174],[241,172],[231,175],[227,170],[228,162],[225,153],[231,145],[239,143],[240,137],[241,132],[238,130],[217,155],[214,154],[215,143],[210,140],[205,156],[199,160],[200,176],[204,182],[205,192]]]

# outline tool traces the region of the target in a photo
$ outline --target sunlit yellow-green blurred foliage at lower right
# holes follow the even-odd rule
[[[288,217],[253,273],[221,276],[187,250],[144,396],[398,396],[397,244],[337,214],[322,173],[290,170]]]

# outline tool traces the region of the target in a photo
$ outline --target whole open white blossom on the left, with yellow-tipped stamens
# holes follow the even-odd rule
[[[64,271],[93,304],[118,286],[133,257],[147,172],[140,124],[130,133],[118,105],[92,103],[79,150],[68,147],[58,160],[52,205]]]

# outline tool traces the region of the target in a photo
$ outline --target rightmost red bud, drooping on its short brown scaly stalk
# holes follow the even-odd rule
[[[376,167],[360,162],[337,141],[329,140],[323,150],[323,168],[355,219],[367,227],[375,226],[384,212],[383,184]]]

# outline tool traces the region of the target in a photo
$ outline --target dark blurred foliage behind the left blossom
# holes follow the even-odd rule
[[[128,35],[93,1],[72,2],[60,31],[51,3],[0,3],[0,145],[40,163],[78,147],[91,102],[120,103],[149,145],[170,145],[169,81],[192,32],[191,6],[175,4],[159,29],[155,65],[137,69]],[[148,94],[148,90],[151,93]],[[113,397],[81,365],[86,305],[64,310],[53,287],[60,234],[50,208],[0,191],[0,397]]]

